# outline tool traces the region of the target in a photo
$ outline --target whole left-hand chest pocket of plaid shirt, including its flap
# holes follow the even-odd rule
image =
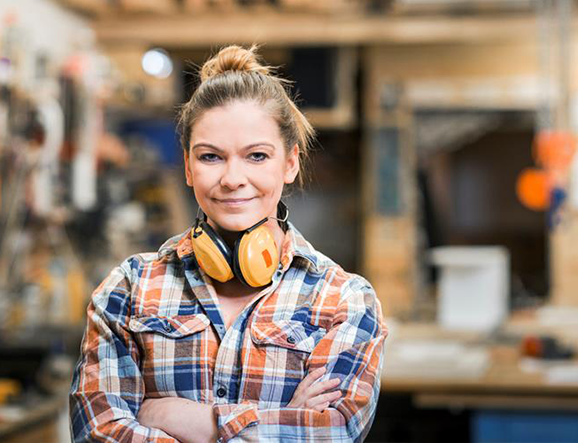
[[[210,367],[206,315],[134,317],[129,329],[141,353],[147,396],[183,395],[202,390]],[[204,357],[203,357],[204,356]],[[187,393],[187,395],[185,395]]]

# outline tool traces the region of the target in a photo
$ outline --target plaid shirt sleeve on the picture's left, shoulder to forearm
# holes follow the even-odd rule
[[[130,265],[115,268],[92,294],[81,355],[70,390],[72,440],[80,442],[178,443],[136,416],[145,387],[130,318]]]

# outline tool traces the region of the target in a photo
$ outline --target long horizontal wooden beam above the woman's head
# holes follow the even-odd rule
[[[168,48],[227,43],[270,45],[432,44],[534,41],[534,15],[516,17],[383,17],[352,15],[199,14],[117,16],[94,24],[103,44],[132,41]]]

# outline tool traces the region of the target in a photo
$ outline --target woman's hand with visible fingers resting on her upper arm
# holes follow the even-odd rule
[[[325,367],[322,366],[307,374],[307,377],[297,386],[287,407],[323,412],[331,402],[341,397],[341,391],[332,391],[339,386],[340,380],[338,378],[315,383],[315,380],[325,374],[325,371]]]

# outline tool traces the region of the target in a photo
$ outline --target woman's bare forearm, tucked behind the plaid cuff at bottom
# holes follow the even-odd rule
[[[137,421],[161,429],[181,443],[208,443],[217,440],[213,408],[186,398],[148,398],[141,405]]]

